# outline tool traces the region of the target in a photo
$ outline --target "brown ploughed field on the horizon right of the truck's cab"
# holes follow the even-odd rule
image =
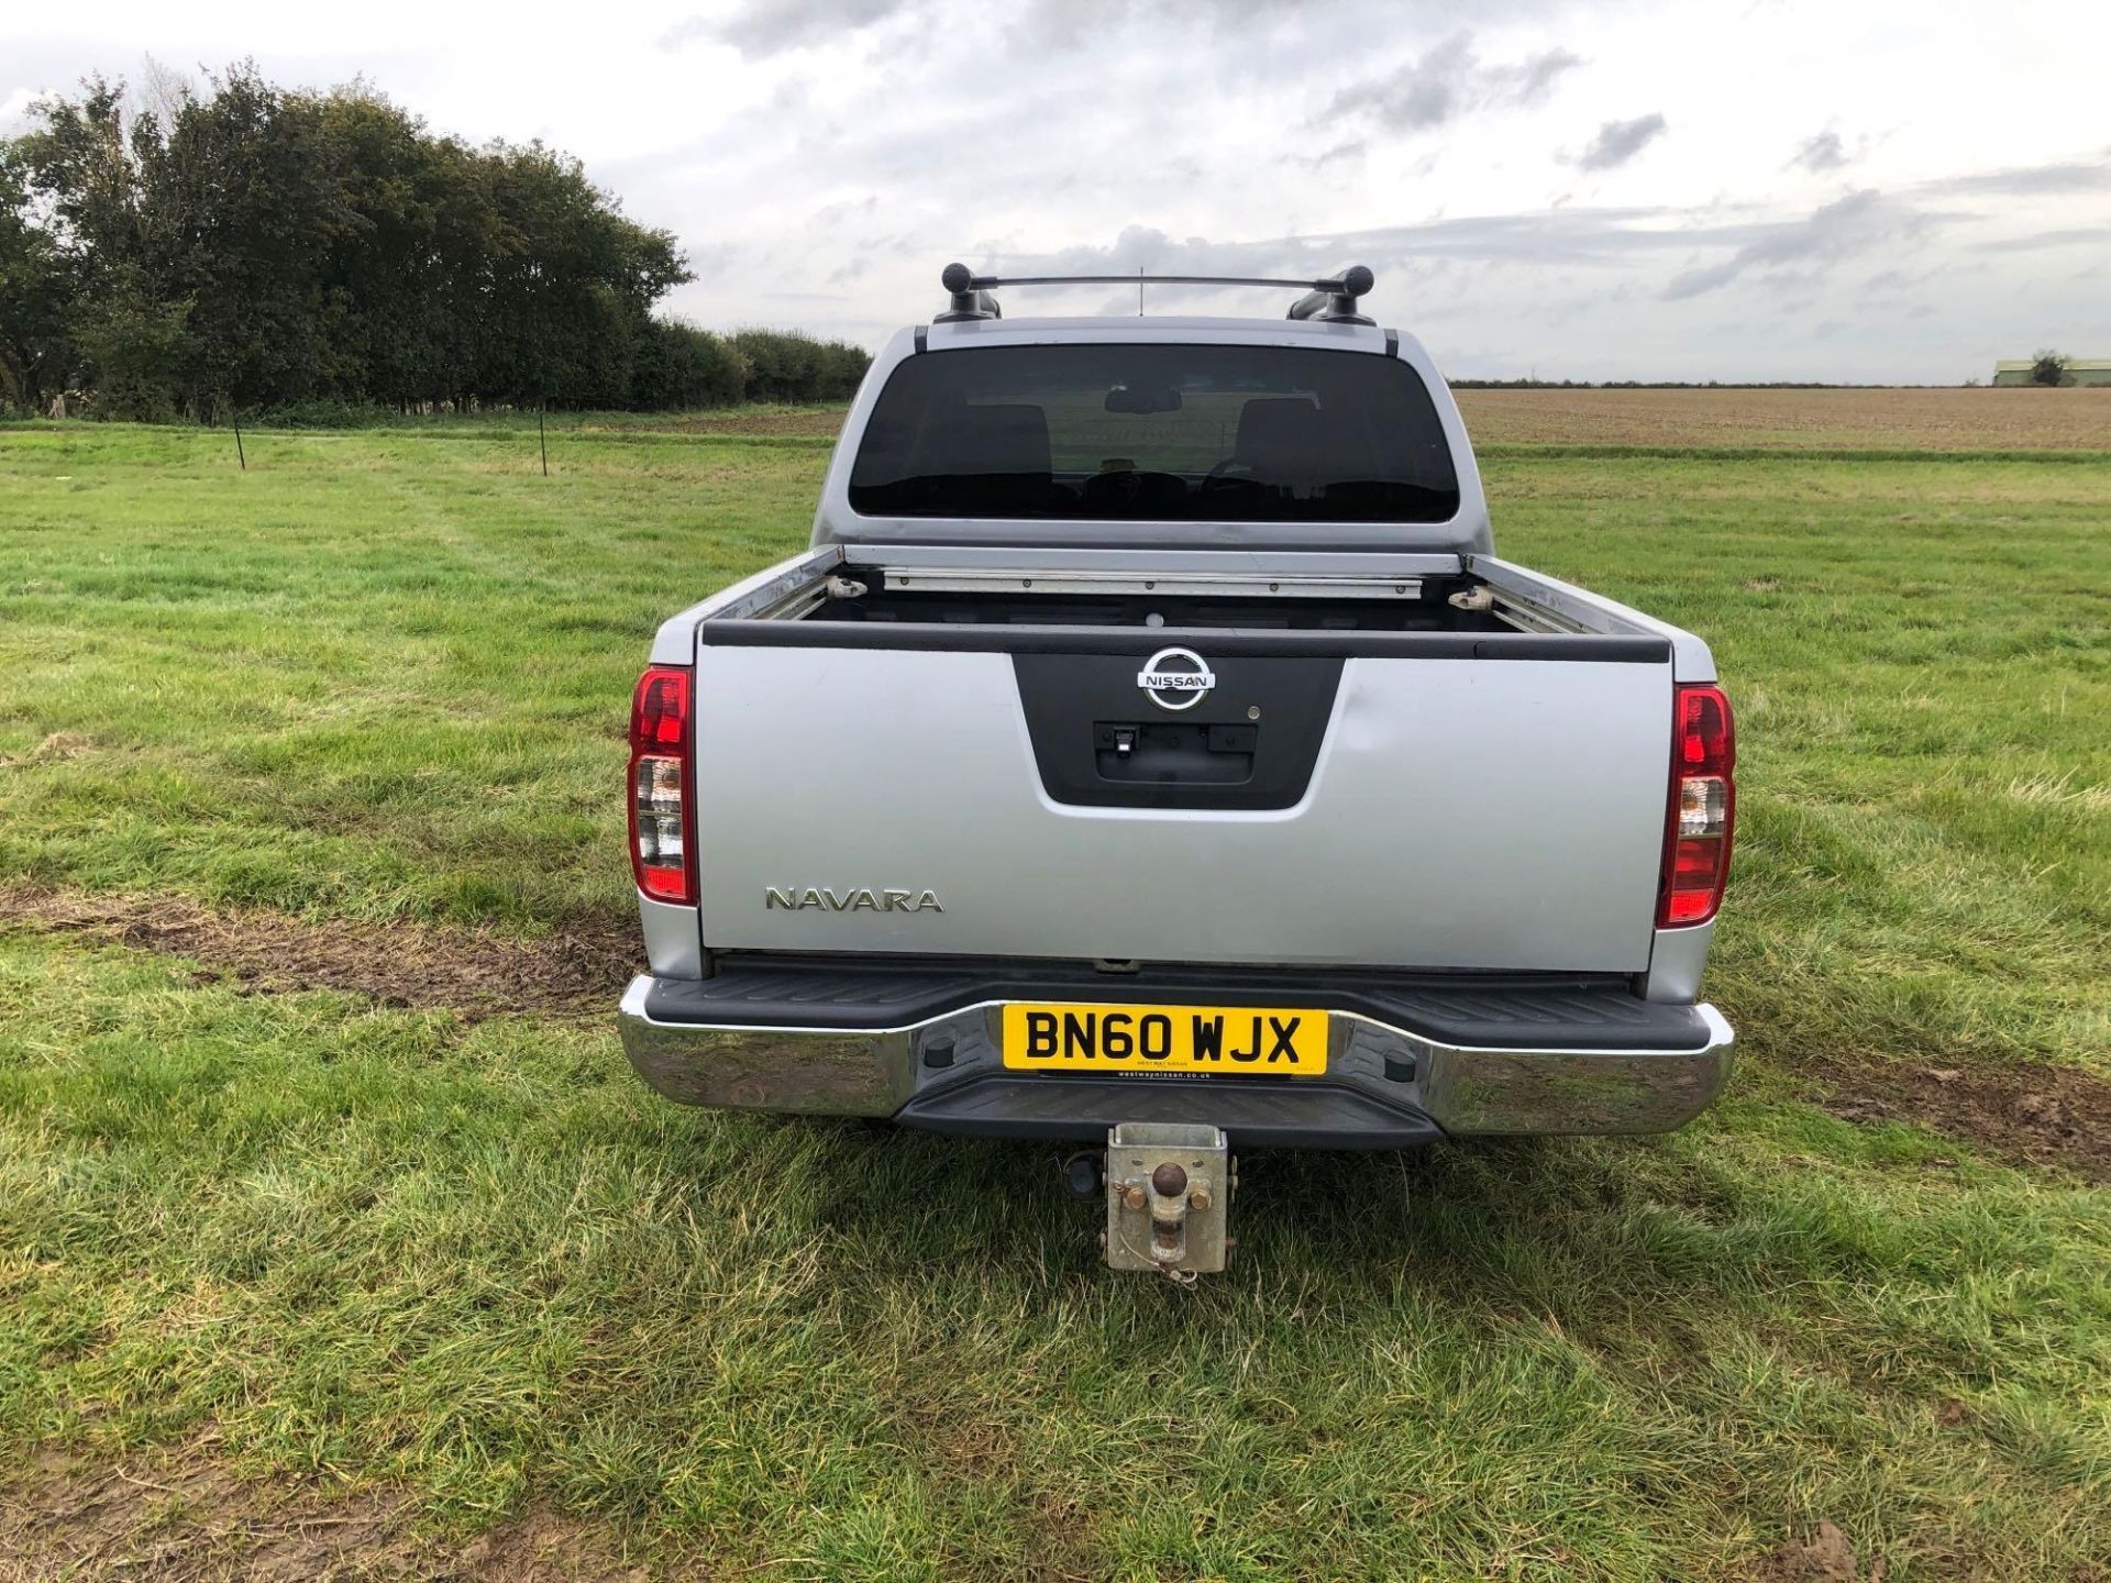
[[[1459,390],[1480,445],[2111,450],[2111,390]]]

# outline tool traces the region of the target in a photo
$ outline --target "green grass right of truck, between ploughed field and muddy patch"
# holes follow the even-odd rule
[[[2111,458],[1516,462],[1503,553],[1704,633],[1748,1049],[2111,1072]]]

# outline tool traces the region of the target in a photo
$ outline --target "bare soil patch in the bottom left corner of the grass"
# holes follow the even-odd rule
[[[646,1568],[549,1511],[509,1518],[469,1545],[420,1537],[403,1492],[325,1494],[241,1480],[190,1452],[89,1463],[46,1452],[0,1484],[0,1583],[156,1579],[464,1579],[638,1583]]]

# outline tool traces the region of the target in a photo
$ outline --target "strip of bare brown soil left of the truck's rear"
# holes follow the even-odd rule
[[[194,956],[255,990],[353,990],[391,1007],[602,1013],[640,967],[629,918],[547,939],[431,924],[304,922],[281,912],[213,912],[177,897],[0,886],[0,924]]]

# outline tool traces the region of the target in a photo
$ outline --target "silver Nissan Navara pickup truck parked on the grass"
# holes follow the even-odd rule
[[[811,549],[659,629],[644,1079],[1091,1142],[1108,1260],[1182,1279],[1231,1148],[1691,1119],[1731,1055],[1706,644],[1497,557],[1368,270],[1288,319],[1001,314],[1043,283],[950,266]]]

